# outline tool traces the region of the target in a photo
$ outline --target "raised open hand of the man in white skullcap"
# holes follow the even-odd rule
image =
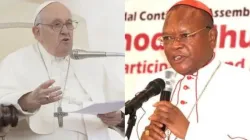
[[[55,80],[48,80],[42,83],[34,91],[23,95],[18,103],[24,111],[34,112],[41,105],[49,104],[62,99],[61,87],[51,87]]]

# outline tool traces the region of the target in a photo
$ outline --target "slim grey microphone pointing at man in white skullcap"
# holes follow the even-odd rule
[[[118,52],[101,52],[101,51],[86,51],[81,49],[74,49],[70,53],[70,58],[79,60],[85,58],[96,58],[96,57],[124,57],[124,53]]]

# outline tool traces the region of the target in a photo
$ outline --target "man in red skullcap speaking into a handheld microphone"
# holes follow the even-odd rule
[[[216,40],[205,4],[183,0],[167,12],[161,41],[172,68],[140,82],[175,82],[170,101],[156,96],[144,104],[142,140],[250,140],[250,73],[220,61]],[[171,71],[173,78],[165,77]]]

